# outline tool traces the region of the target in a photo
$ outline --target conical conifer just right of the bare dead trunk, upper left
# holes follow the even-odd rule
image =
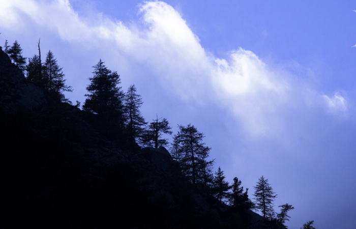
[[[40,61],[40,57],[38,57]],[[37,66],[39,68],[39,66]],[[66,101],[63,92],[71,92],[72,87],[65,84],[63,68],[58,66],[57,60],[54,58],[53,53],[49,50],[46,56],[46,61],[43,64],[43,78],[46,82],[45,90],[51,96],[58,97],[61,101]],[[41,73],[40,73],[41,74]]]

